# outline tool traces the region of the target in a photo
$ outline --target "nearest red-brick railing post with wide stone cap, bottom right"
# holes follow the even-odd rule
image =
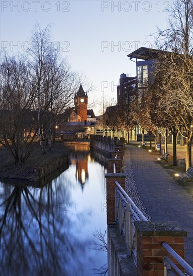
[[[135,221],[137,230],[138,276],[164,276],[163,257],[170,256],[161,245],[167,242],[184,258],[184,237],[187,235],[175,221]],[[174,258],[172,261],[183,271]]]

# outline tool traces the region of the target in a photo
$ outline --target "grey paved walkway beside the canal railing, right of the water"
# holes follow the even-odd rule
[[[175,220],[187,231],[185,260],[193,266],[193,198],[143,149],[126,145],[126,190],[148,219]],[[190,189],[193,189],[190,187]]]

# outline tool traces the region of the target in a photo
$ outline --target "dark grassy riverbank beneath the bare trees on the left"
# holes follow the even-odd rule
[[[28,160],[21,165],[16,165],[10,153],[0,148],[0,180],[13,179],[27,182],[37,182],[59,167],[67,167],[68,151],[62,141],[52,145],[51,151],[45,148],[46,154],[42,155],[39,144]]]

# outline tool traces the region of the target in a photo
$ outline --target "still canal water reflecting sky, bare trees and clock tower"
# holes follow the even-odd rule
[[[105,172],[88,153],[78,156],[44,187],[0,183],[1,275],[92,275],[107,263],[89,249],[91,232],[106,229]]]

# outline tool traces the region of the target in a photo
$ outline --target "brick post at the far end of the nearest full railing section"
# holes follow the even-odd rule
[[[105,175],[107,180],[107,224],[115,224],[115,212],[116,212],[116,196],[115,189],[117,180],[121,187],[125,190],[125,178],[124,174],[108,173]]]

